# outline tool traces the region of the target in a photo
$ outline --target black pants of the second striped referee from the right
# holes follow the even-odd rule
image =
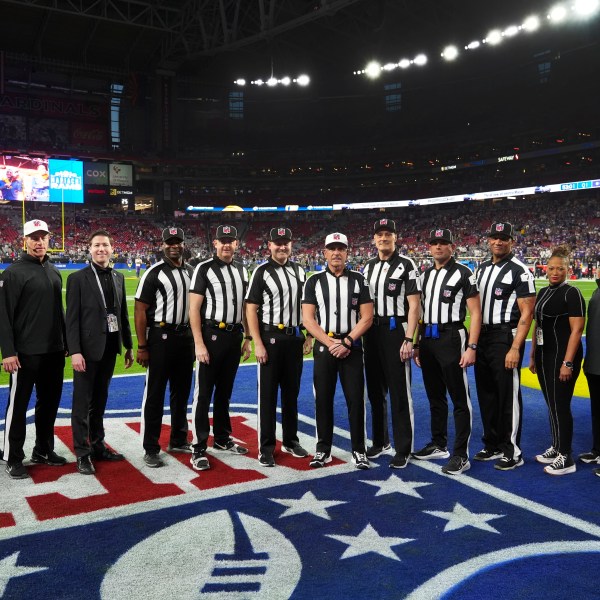
[[[440,337],[422,338],[419,349],[423,383],[431,409],[431,441],[440,448],[448,445],[448,398],[454,405],[455,456],[468,458],[473,411],[467,370],[460,365],[465,351],[464,328],[440,331]]]

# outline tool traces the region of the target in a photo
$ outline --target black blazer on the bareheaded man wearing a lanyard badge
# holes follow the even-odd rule
[[[127,314],[125,278],[113,270],[115,309],[119,322],[119,354],[122,346],[133,348]],[[69,354],[83,354],[86,360],[99,361],[104,354],[108,326],[106,309],[91,266],[67,279],[67,347]]]

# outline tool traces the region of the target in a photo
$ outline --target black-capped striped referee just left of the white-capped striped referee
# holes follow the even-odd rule
[[[246,296],[246,317],[254,340],[258,370],[258,461],[275,466],[277,392],[281,389],[283,452],[305,458],[308,452],[298,440],[298,394],[302,354],[311,351],[312,339],[301,329],[304,269],[290,260],[292,232],[274,227],[269,232],[267,262],[258,266]]]

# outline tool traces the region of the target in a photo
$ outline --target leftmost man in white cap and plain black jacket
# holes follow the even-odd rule
[[[0,276],[0,348],[10,374],[4,431],[6,472],[27,479],[23,466],[27,407],[35,385],[34,463],[62,466],[54,452],[54,422],[65,366],[65,318],[62,277],[48,260],[48,225],[39,219],[24,225],[26,252]]]

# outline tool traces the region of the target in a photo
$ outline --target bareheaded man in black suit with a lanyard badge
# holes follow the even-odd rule
[[[125,347],[125,368],[133,364],[125,278],[110,268],[112,238],[90,236],[90,264],[67,279],[67,345],[73,363],[71,427],[77,469],[95,473],[95,460],[123,460],[104,443],[104,410],[117,354]]]

